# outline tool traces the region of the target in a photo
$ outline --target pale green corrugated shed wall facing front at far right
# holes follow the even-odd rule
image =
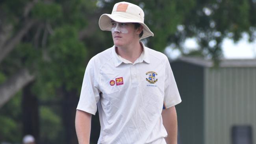
[[[204,144],[231,144],[231,127],[252,126],[256,140],[256,68],[204,69]]]

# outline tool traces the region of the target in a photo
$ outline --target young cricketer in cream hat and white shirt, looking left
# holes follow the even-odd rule
[[[143,10],[119,2],[100,17],[99,26],[112,32],[114,46],[86,67],[76,111],[79,144],[89,144],[97,106],[98,144],[177,144],[174,105],[180,95],[167,57],[140,41],[154,36]]]

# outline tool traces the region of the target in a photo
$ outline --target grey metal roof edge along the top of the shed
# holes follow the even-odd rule
[[[214,62],[211,59],[201,57],[180,57],[174,61],[183,61],[204,67],[214,66]],[[256,67],[256,59],[221,59],[219,67]]]

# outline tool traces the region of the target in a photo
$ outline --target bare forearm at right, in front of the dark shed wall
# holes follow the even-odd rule
[[[177,144],[177,114],[175,107],[163,109],[162,111],[163,126],[165,127],[168,136],[165,138],[167,144]]]

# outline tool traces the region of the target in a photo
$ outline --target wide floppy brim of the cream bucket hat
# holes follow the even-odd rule
[[[141,24],[143,26],[143,35],[140,39],[145,39],[146,37],[154,36],[154,33],[152,33],[152,31],[149,30],[146,24],[130,18],[121,17],[119,15],[111,15],[111,14],[103,14],[100,16],[100,19],[99,19],[100,30],[111,31],[111,28],[112,28],[111,19],[116,22],[124,22],[124,23],[133,22],[133,23]]]

